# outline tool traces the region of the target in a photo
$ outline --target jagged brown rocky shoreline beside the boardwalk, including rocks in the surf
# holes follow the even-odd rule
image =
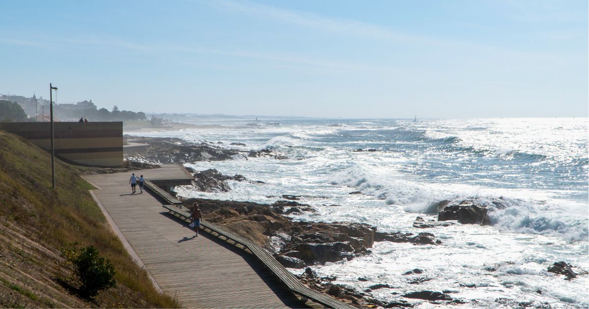
[[[260,151],[226,149],[220,146],[220,142],[201,142],[197,144],[177,138],[141,138],[140,141],[148,144],[148,147],[144,148],[140,154],[130,155],[127,158],[143,163],[130,163],[130,167],[135,167],[134,165],[140,167],[141,164],[147,163],[183,164],[196,161],[232,160],[238,157],[246,160],[248,157],[273,157],[276,160],[286,158],[283,154],[274,152],[271,149],[262,149]],[[237,145],[239,143],[232,144]],[[237,146],[245,145],[239,144]],[[356,151],[360,151],[360,149]],[[368,151],[371,151],[371,149]],[[262,181],[249,180],[239,174],[224,175],[214,169],[204,171],[190,170],[190,172],[195,178],[193,181],[194,188],[203,192],[228,192],[231,187],[227,181],[248,181],[264,185]],[[349,194],[361,193],[359,191],[349,192]],[[294,215],[316,212],[317,210],[312,205],[297,202],[303,195],[284,194],[272,197],[279,198],[279,200],[273,204],[260,204],[204,198],[178,198],[189,209],[194,202],[197,202],[205,220],[223,225],[227,229],[262,245],[284,267],[305,269],[298,277],[302,283],[310,288],[332,295],[356,307],[413,307],[424,301],[433,305],[477,303],[477,300],[452,297],[452,293],[456,291],[450,289],[440,291],[419,290],[419,284],[431,280],[435,274],[423,274],[423,271],[418,268],[399,274],[406,276],[406,281],[409,284],[416,285],[415,291],[405,294],[396,293],[395,287],[386,283],[373,284],[362,291],[358,291],[349,285],[333,283],[333,281],[337,280],[333,275],[318,277],[312,269],[313,266],[349,261],[363,255],[369,255],[372,252],[370,248],[375,242],[406,242],[419,246],[437,246],[442,245],[442,240],[426,231],[418,234],[402,231],[382,232],[378,231],[378,227],[359,222],[307,222],[294,220]],[[429,207],[432,212],[438,214],[437,220],[426,220],[418,216],[412,226],[414,228],[428,229],[455,224],[492,225],[489,219],[489,211],[505,209],[508,207],[507,203],[501,197],[491,202],[482,201],[476,197],[439,201]],[[554,263],[547,271],[562,275],[565,280],[574,280],[578,275],[578,271],[575,273],[573,268],[573,265],[561,261]],[[489,266],[487,271],[494,271],[494,266]],[[358,281],[368,281],[368,279],[359,277]],[[460,283],[460,286],[476,288],[476,285],[472,283]],[[383,300],[373,296],[372,291],[383,288],[391,290],[390,294],[395,295],[395,299]],[[537,291],[537,293],[541,294],[542,291]],[[504,298],[498,298],[495,302],[498,305],[507,307],[547,307],[547,304],[544,303],[521,303]]]

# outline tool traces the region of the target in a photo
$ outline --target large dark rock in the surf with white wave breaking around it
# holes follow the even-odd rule
[[[458,220],[462,224],[489,225],[487,207],[478,205],[474,200],[464,200],[459,204],[449,205],[438,213],[438,221]]]

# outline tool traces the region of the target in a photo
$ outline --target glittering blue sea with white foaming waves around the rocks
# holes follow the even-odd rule
[[[237,155],[186,164],[264,184],[230,181],[230,192],[213,193],[177,187],[183,197],[272,203],[282,194],[303,195],[299,202],[317,212],[294,215],[295,220],[428,231],[443,241],[376,242],[364,257],[313,267],[320,275],[336,275],[336,283],[359,290],[389,284],[392,289],[372,291],[384,300],[411,291],[448,290],[454,298],[477,300],[468,307],[498,307],[499,298],[551,307],[589,305],[587,118],[280,119],[271,121],[279,125],[259,121],[255,127],[246,122],[221,119],[200,122],[223,125],[214,129],[129,133],[220,141],[224,147],[241,142],[246,145],[230,147],[269,148],[288,157]],[[507,208],[489,212],[491,226],[412,227],[418,215],[436,219],[433,202],[469,197],[482,202],[502,197]],[[573,264],[582,274],[566,281],[548,273],[556,261]],[[418,277],[429,281],[410,284],[416,275],[402,274],[413,268],[423,270]]]

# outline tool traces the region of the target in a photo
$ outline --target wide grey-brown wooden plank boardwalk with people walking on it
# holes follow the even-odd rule
[[[178,165],[135,171],[146,179],[180,179]],[[87,175],[98,201],[160,286],[190,308],[306,307],[262,263],[206,232],[194,237],[186,222],[148,192],[131,195],[131,172]]]

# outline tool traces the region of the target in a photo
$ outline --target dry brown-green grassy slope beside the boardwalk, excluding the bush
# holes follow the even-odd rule
[[[0,307],[178,307],[158,294],[111,231],[78,171],[16,135],[0,131]],[[59,248],[94,245],[115,265],[116,288],[95,301],[63,279],[71,268]],[[70,290],[70,291],[68,291]]]

